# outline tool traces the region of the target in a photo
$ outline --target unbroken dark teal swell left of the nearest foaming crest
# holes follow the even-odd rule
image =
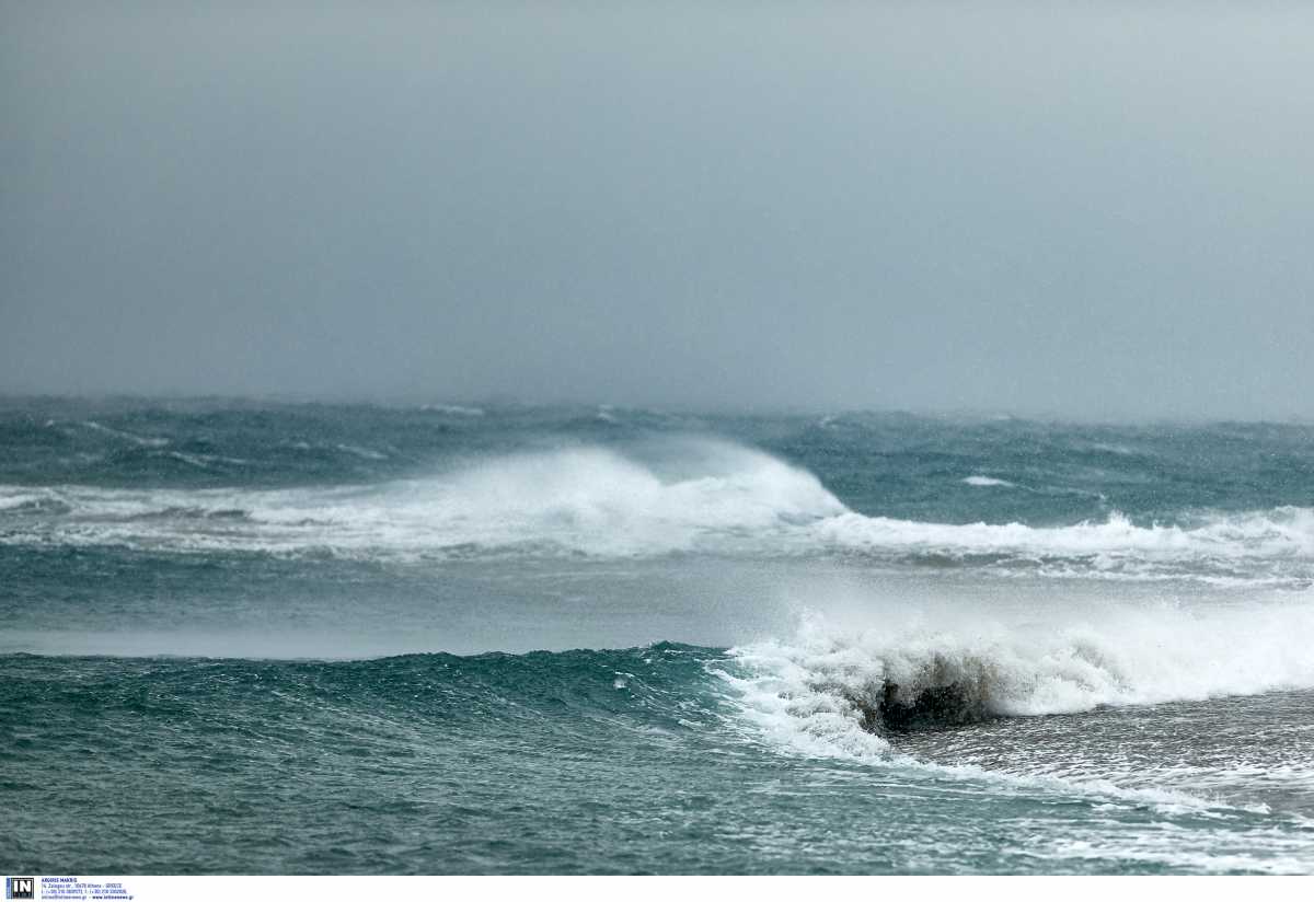
[[[0,655],[0,706],[32,717],[118,712],[204,723],[263,709],[460,730],[578,730],[629,718],[671,726],[707,719],[720,704],[710,662],[724,653],[674,643],[639,649],[367,660]],[[302,718],[304,719],[304,718]]]

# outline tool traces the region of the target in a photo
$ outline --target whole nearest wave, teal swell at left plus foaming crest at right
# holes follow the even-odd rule
[[[1120,625],[1127,626],[1127,621]],[[1209,624],[1209,630],[1233,626],[1217,621]],[[180,731],[214,737],[225,748],[240,739],[243,747],[277,760],[327,755],[396,763],[434,755],[435,742],[447,750],[453,743],[469,743],[463,747],[470,754],[484,750],[478,754],[518,756],[535,754],[531,750],[544,743],[570,755],[579,754],[581,743],[615,755],[643,743],[682,756],[727,751],[742,755],[746,743],[771,755],[915,768],[934,780],[984,781],[1026,793],[1122,798],[1198,811],[1221,802],[1192,794],[1189,783],[1184,788],[1142,785],[1144,781],[1126,775],[1110,781],[1099,772],[1060,777],[1034,763],[1021,769],[946,765],[909,759],[899,751],[896,734],[903,729],[961,726],[976,717],[1108,704],[1109,696],[1099,696],[1101,680],[1081,668],[1110,670],[1120,660],[1123,671],[1114,683],[1122,695],[1112,704],[1314,685],[1314,667],[1307,660],[1303,670],[1273,670],[1264,677],[1246,679],[1259,639],[1297,626],[1307,630],[1309,620],[1284,620],[1273,626],[1255,637],[1256,642],[1243,642],[1246,647],[1230,658],[1218,656],[1226,642],[1215,639],[1209,650],[1159,674],[1148,659],[1139,667],[1127,666],[1134,664],[1137,649],[1151,647],[1155,637],[1123,643],[1121,650],[1113,645],[1099,649],[1089,637],[1070,638],[1033,649],[1020,662],[1017,651],[1009,659],[997,647],[955,650],[945,635],[920,642],[890,632],[882,632],[884,638],[836,635],[816,624],[788,643],[728,653],[657,643],[622,650],[417,654],[351,662],[0,655],[0,706],[20,722],[41,723],[43,730],[66,738],[76,735],[88,719],[131,723],[131,729],[100,735],[99,747],[110,756],[139,752],[135,737],[143,729],[164,727],[170,737]],[[1190,638],[1198,645],[1201,637]],[[1303,638],[1307,642],[1307,633]],[[1210,654],[1222,672],[1233,675],[1231,681],[1205,675],[1189,685],[1151,685],[1152,679],[1171,674],[1185,679],[1187,667],[1198,667]],[[1083,663],[1072,670],[1060,660],[1064,656]],[[1077,705],[1068,700],[1055,708],[1043,702],[1043,692],[1035,692],[1046,681],[1068,681],[1087,695]],[[953,716],[921,705],[921,713],[928,716],[922,722],[891,721],[896,697],[918,706],[917,698],[936,693],[943,700],[945,689],[958,693]],[[900,696],[904,692],[908,695]],[[1035,704],[1038,698],[1042,704]],[[962,705],[967,702],[978,706],[970,717],[963,716]],[[1050,751],[1066,754],[1059,746]],[[8,754],[21,769],[39,767],[47,751],[20,743]],[[1038,754],[1043,758],[1046,751]]]

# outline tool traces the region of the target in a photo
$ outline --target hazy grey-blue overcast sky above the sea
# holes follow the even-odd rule
[[[1310,4],[0,11],[0,391],[1314,416]]]

